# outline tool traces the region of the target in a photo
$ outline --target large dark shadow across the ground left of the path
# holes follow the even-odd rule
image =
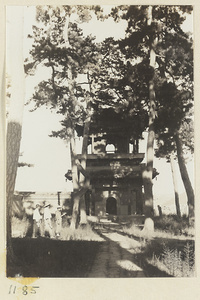
[[[14,238],[7,277],[87,277],[101,242]]]

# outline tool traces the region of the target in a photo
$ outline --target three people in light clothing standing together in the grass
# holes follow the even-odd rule
[[[44,206],[43,216],[40,214],[40,205],[36,204],[36,208],[33,212],[33,237],[42,235],[42,218],[44,220],[44,236],[49,236],[50,238],[59,237],[62,228],[62,217],[61,214],[62,207],[58,206],[55,213],[55,229],[53,228],[52,214],[50,211],[50,204]]]

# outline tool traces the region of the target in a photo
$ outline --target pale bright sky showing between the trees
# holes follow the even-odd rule
[[[31,27],[34,24],[34,7],[25,9],[24,19],[24,37],[25,47],[24,54],[28,55],[31,46],[31,40],[26,39],[28,33],[31,33]],[[187,31],[193,31],[192,16],[190,16],[185,27]],[[85,34],[95,32],[97,41],[103,40],[105,37],[113,36],[120,38],[124,36],[125,22],[114,23],[112,19],[104,22],[92,20],[88,24],[83,25]],[[38,70],[34,77],[26,78],[26,101],[33,93],[34,86],[44,79],[44,70]],[[21,161],[34,164],[34,167],[23,167],[18,169],[16,180],[16,190],[21,191],[42,191],[57,192],[71,191],[71,184],[65,181],[64,174],[70,168],[69,148],[66,142],[50,138],[48,135],[52,130],[60,128],[59,117],[49,110],[42,108],[35,112],[29,112],[29,107],[25,106],[21,152],[23,157]],[[141,144],[141,152],[145,152],[146,144]],[[173,186],[170,165],[165,161],[155,159],[154,166],[158,169],[160,175],[154,180],[155,200],[167,200],[173,198]],[[189,165],[190,175],[193,178],[193,164]],[[166,179],[167,178],[167,179]],[[179,182],[180,193],[184,188]],[[162,195],[162,197],[161,197]],[[185,199],[182,201],[186,205]]]

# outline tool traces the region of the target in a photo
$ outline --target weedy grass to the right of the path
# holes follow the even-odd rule
[[[123,232],[146,241],[143,256],[148,264],[174,277],[195,276],[194,221],[188,224],[186,217],[169,215],[156,217],[154,226],[151,237],[134,224]]]

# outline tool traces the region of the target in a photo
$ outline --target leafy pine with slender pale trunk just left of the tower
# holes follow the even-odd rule
[[[39,83],[36,88],[33,96],[36,108],[47,105],[64,115],[64,120],[61,122],[63,129],[53,132],[53,136],[68,139],[70,142],[74,189],[71,222],[73,229],[77,226],[80,198],[86,191],[86,183],[88,185],[88,181],[82,178],[82,175],[86,176],[90,102],[93,101],[88,86],[92,84],[90,73],[95,70],[98,62],[94,38],[84,37],[73,19],[87,21],[90,19],[89,10],[90,8],[85,6],[39,7],[37,19],[42,22],[43,28],[39,26],[33,28],[34,44],[31,50],[33,61],[28,61],[26,64],[29,73],[38,63],[51,70],[51,78]],[[80,75],[83,82],[80,80]],[[76,157],[75,145],[75,132],[79,124],[84,127],[82,162]],[[78,176],[78,172],[82,175]]]

